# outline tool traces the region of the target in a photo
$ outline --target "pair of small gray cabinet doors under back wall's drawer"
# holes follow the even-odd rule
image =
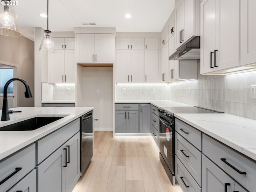
[[[138,110],[115,110],[116,133],[138,133],[139,112]]]

